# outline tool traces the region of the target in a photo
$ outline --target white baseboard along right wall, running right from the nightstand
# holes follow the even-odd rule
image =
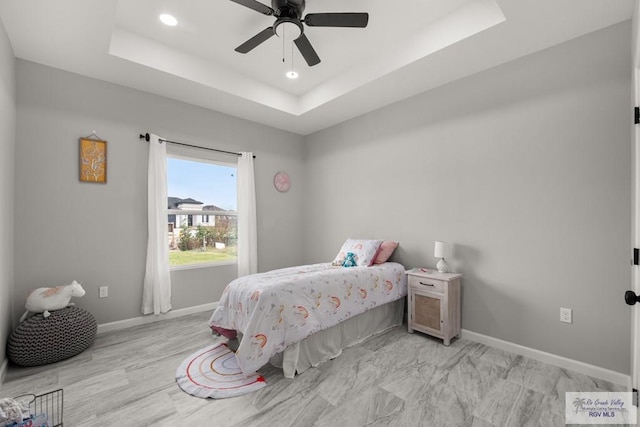
[[[470,341],[490,345],[491,347],[499,348],[500,350],[510,351],[511,353],[530,357],[531,359],[537,360],[539,362],[549,363],[550,365],[554,365],[559,368],[570,369],[572,371],[580,372],[581,374],[589,375],[594,378],[600,378],[602,380],[627,387],[629,390],[631,390],[631,376],[622,374],[620,372],[536,350],[534,348],[525,347],[523,345],[514,344],[509,341],[503,341],[498,338],[493,338],[487,335],[479,334],[477,332],[468,331],[466,329],[462,330],[461,337]]]

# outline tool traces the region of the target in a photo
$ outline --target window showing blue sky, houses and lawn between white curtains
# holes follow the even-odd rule
[[[167,244],[172,269],[235,263],[237,167],[167,155]]]

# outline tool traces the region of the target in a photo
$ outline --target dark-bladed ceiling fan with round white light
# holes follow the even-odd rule
[[[293,40],[302,57],[310,67],[320,63],[311,42],[304,34],[303,23],[309,27],[351,27],[365,28],[369,22],[368,13],[309,13],[304,19],[305,0],[271,0],[271,7],[257,0],[231,0],[264,15],[275,16],[273,26],[266,28],[238,46],[239,53],[248,53],[274,35],[285,40]]]

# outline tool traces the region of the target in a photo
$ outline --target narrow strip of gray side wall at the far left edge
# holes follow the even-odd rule
[[[13,289],[13,157],[16,144],[15,59],[0,21],[0,366],[11,333]]]

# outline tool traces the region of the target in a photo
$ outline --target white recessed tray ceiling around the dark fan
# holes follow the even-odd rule
[[[628,20],[633,9],[632,0],[306,3],[305,14],[368,12],[369,25],[305,26],[322,59],[309,67],[278,37],[235,52],[274,18],[228,0],[5,0],[0,19],[18,58],[306,135]],[[296,80],[285,76],[292,68]]]

